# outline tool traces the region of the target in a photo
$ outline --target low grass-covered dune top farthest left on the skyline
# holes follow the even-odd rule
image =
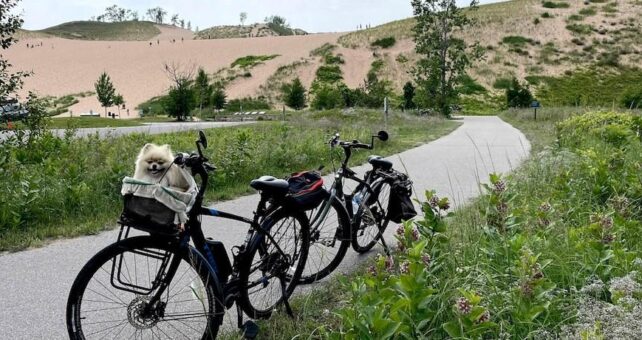
[[[49,34],[65,39],[81,40],[149,40],[160,34],[160,30],[149,21],[98,22],[72,21],[49,27],[37,33]]]

